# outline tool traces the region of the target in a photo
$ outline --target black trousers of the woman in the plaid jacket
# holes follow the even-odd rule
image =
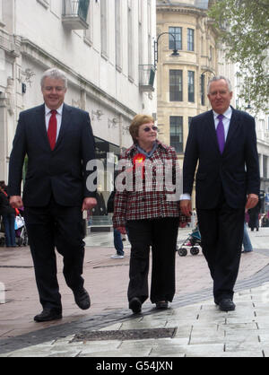
[[[172,301],[175,294],[175,257],[178,217],[127,222],[131,243],[128,301],[148,296],[150,248],[152,247],[151,301]]]

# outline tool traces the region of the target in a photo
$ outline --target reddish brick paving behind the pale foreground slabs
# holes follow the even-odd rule
[[[179,230],[178,243],[187,238],[188,232],[187,229]],[[269,279],[269,229],[250,232],[250,236],[255,251],[242,255],[236,285],[238,291],[259,287]],[[0,283],[4,283],[5,287],[5,303],[0,305],[0,353],[44,343],[52,337],[58,340],[59,337],[80,333],[85,328],[96,329],[135,320],[127,309],[126,301],[128,243],[124,259],[110,259],[115,252],[111,247],[112,233],[92,234],[86,239],[86,245],[84,278],[91,294],[91,309],[82,311],[74,304],[73,293],[66,287],[62,275],[61,257],[57,256],[64,318],[40,324],[32,320],[41,309],[30,250],[0,248]],[[171,305],[172,311],[204,300],[213,305],[212,280],[203,255],[177,255],[177,295]],[[156,316],[149,301],[143,305],[143,317],[147,316]]]

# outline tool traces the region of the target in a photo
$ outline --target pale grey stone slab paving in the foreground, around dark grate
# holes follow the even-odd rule
[[[147,327],[175,327],[172,338],[141,340],[74,341],[66,336],[23,348],[1,357],[266,357],[269,355],[269,283],[235,294],[237,309],[223,312],[212,300],[152,315],[127,319],[103,327],[105,332]],[[247,295],[251,300],[244,301]],[[255,301],[265,310],[258,317]],[[267,309],[267,310],[266,310]],[[87,332],[85,329],[84,332]]]

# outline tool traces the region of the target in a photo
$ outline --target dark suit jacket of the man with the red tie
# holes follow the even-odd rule
[[[95,159],[95,144],[88,112],[64,105],[60,133],[51,151],[45,124],[45,105],[20,114],[9,168],[9,195],[20,196],[22,165],[28,155],[28,169],[23,189],[25,206],[48,205],[53,194],[59,205],[82,205],[88,191],[86,170]]]

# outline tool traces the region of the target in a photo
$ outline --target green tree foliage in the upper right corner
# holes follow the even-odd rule
[[[269,2],[219,0],[209,11],[226,57],[239,64],[240,94],[246,105],[268,113]]]

